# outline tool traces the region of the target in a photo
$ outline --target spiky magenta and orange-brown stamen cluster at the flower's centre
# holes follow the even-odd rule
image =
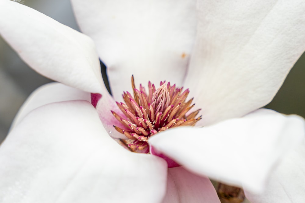
[[[190,112],[195,104],[193,98],[186,101],[189,90],[171,86],[170,82],[160,82],[160,87],[148,82],[148,91],[140,84],[135,87],[134,77],[131,77],[133,89],[132,96],[124,92],[124,102],[117,102],[117,106],[125,117],[119,116],[111,111],[114,117],[120,121],[125,128],[113,126],[117,131],[126,136],[121,140],[133,152],[148,153],[148,139],[158,132],[178,126],[195,125],[201,119],[197,114],[201,109]]]

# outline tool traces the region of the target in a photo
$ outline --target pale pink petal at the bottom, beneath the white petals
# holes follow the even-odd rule
[[[164,203],[220,203],[215,188],[207,177],[200,177],[183,167],[169,168]]]

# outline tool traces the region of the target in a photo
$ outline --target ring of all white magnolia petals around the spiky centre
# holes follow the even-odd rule
[[[2,37],[34,70],[61,82],[27,99],[2,143],[1,202],[220,202],[207,176],[243,187],[254,203],[304,198],[303,118],[257,110],[304,51],[303,1],[72,3],[93,40],[0,0]],[[187,87],[202,109],[198,127],[148,140],[180,167],[116,142],[124,136],[110,110],[130,91],[132,74],[138,84]]]

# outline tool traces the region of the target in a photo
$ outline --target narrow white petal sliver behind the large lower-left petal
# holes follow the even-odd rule
[[[83,92],[81,90],[57,82],[48,83],[39,87],[33,93],[31,93],[31,95],[23,103],[22,107],[14,118],[11,130],[30,111],[48,103],[69,100],[87,100],[90,102],[90,93]]]

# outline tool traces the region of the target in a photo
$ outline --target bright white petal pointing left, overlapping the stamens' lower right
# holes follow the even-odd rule
[[[161,132],[149,143],[195,173],[257,192],[304,131],[303,118],[260,109],[208,127]]]

